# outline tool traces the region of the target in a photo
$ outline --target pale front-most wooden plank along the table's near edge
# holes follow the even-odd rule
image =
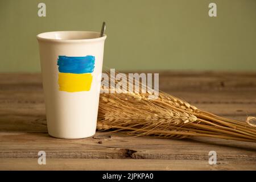
[[[241,160],[217,162],[196,160],[147,160],[147,159],[46,159],[39,165],[37,159],[0,159],[0,170],[256,170],[254,162]]]

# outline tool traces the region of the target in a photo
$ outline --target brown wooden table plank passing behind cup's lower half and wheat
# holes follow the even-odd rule
[[[210,111],[223,117],[245,121],[248,115],[256,115],[256,104],[246,101],[246,95],[210,93],[191,94],[174,93],[200,109]],[[252,94],[256,98],[256,94]],[[222,101],[227,100],[226,102]],[[241,100],[241,102],[234,102]],[[245,101],[242,99],[245,98]],[[205,101],[208,100],[208,101]],[[212,101],[210,101],[212,100]],[[219,100],[219,101],[218,101]],[[194,104],[195,103],[195,104]],[[17,95],[0,94],[0,131],[46,132],[46,115],[43,91],[21,92]]]

